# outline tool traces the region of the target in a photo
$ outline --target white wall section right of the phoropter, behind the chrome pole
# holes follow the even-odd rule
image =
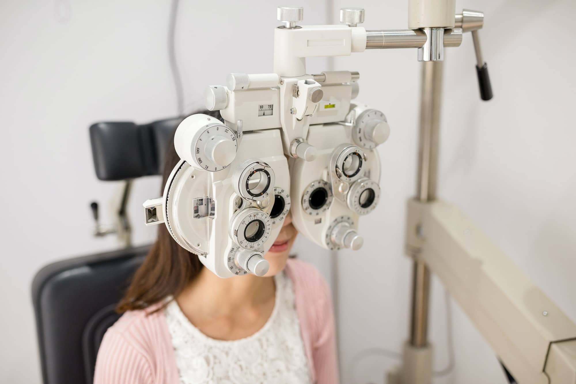
[[[338,1],[363,6],[366,29],[406,28],[407,2]],[[494,99],[480,101],[469,35],[446,54],[439,164],[440,197],[478,223],[576,321],[576,96],[574,1],[457,1],[486,13],[480,39]],[[405,200],[415,192],[420,67],[414,50],[338,58],[361,73],[359,100],[380,108],[392,128],[380,150],[382,201],[361,221],[361,256],[339,255],[339,318],[346,383],[382,383],[396,364],[366,357],[355,381],[348,364],[365,348],[400,351],[407,338],[411,263],[403,255]],[[375,268],[377,266],[377,268]],[[444,293],[433,283],[434,367],[446,364]],[[456,368],[435,383],[505,383],[494,353],[453,305]]]

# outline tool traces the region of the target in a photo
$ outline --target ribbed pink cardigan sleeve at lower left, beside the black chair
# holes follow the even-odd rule
[[[122,334],[108,330],[98,350],[94,384],[152,383],[147,357]]]

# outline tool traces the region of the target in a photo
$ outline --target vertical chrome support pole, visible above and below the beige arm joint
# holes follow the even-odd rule
[[[416,198],[419,201],[433,201],[436,198],[441,88],[442,62],[422,62],[418,186],[416,188]],[[410,326],[410,344],[413,347],[426,347],[427,345],[429,298],[430,270],[425,263],[415,257],[412,270]]]

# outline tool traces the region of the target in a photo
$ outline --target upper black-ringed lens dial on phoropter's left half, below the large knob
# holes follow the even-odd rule
[[[274,191],[274,171],[264,161],[248,159],[237,168],[233,178],[236,193],[250,201],[262,201]]]

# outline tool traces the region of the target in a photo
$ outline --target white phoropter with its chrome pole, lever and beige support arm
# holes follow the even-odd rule
[[[408,201],[406,253],[413,259],[410,337],[393,384],[428,384],[430,273],[441,279],[518,383],[576,383],[576,325],[456,207],[436,196],[444,49],[471,32],[480,98],[490,100],[480,50],[482,12],[454,1],[409,0],[406,30],[366,31],[365,12],[340,10],[341,25],[298,25],[304,11],[278,8],[274,72],[232,73],[206,89],[224,123],[192,115],[180,123],[181,160],[160,198],[144,204],[147,225],[173,238],[220,277],[268,270],[263,255],[289,209],[295,227],[326,249],[361,249],[359,219],[380,198],[376,147],[393,111],[357,103],[354,71],[306,73],[306,57],[416,48],[422,62],[418,187]]]

